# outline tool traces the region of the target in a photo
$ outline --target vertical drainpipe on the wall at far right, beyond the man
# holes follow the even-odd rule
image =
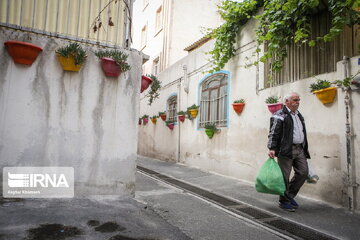
[[[343,64],[344,64],[344,79],[349,77],[350,73],[349,73],[349,58],[344,56],[343,58]],[[344,103],[345,103],[345,116],[346,116],[346,121],[345,121],[345,127],[346,127],[346,166],[347,166],[347,194],[348,194],[348,204],[349,204],[349,210],[350,211],[354,211],[355,209],[355,204],[356,204],[356,189],[357,189],[357,184],[356,184],[356,173],[354,171],[353,168],[353,152],[352,152],[352,148],[353,148],[353,141],[352,141],[352,137],[353,134],[351,133],[351,94],[350,94],[350,87],[343,87],[343,90],[345,92],[345,98],[344,98]]]

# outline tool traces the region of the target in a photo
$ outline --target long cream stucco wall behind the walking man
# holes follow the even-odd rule
[[[228,127],[221,128],[213,139],[208,139],[203,129],[198,129],[196,120],[185,120],[175,126],[170,132],[164,123],[141,126],[139,129],[139,153],[163,160],[180,161],[189,166],[200,167],[227,176],[236,177],[253,183],[258,169],[267,159],[267,135],[271,113],[265,104],[270,95],[284,96],[289,91],[300,94],[300,112],[304,115],[310,144],[311,163],[320,181],[317,184],[305,184],[300,194],[330,203],[347,205],[347,163],[345,139],[345,105],[344,92],[340,88],[334,103],[323,105],[312,93],[309,86],[315,78],[302,79],[278,87],[263,88],[264,70],[260,65],[245,68],[247,58],[253,58],[256,48],[254,41],[255,23],[251,21],[238,38],[239,54],[234,57],[224,70],[230,74]],[[208,52],[213,42],[207,43],[189,56],[181,59],[159,75],[159,79],[166,86],[162,89],[160,99],[152,106],[147,105],[147,99],[141,100],[140,115],[152,116],[158,111],[165,110],[166,100],[171,92],[180,96],[179,110],[185,110],[192,104],[199,104],[199,83],[208,74]],[[182,67],[188,68],[189,93],[184,91]],[[351,59],[351,74],[359,70],[358,57]],[[337,71],[317,76],[330,81],[344,78],[342,62],[337,65]],[[177,79],[182,79],[181,90],[178,90]],[[257,84],[258,80],[258,84]],[[244,111],[237,115],[231,106],[235,99],[244,98]],[[359,176],[360,164],[359,136],[360,91],[351,92],[351,110],[353,127],[354,172]],[[161,121],[161,120],[160,120]],[[180,128],[180,130],[179,130]],[[180,138],[178,134],[180,132]],[[144,137],[144,138],[143,138]],[[180,142],[180,144],[178,144]],[[180,158],[176,158],[180,145]],[[359,193],[357,199],[359,199]],[[356,199],[355,199],[356,200]],[[357,201],[359,206],[360,202]]]

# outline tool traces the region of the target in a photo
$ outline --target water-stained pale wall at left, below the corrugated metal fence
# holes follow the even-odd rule
[[[4,47],[8,40],[43,52],[31,66],[15,64]],[[109,78],[94,55],[99,49],[83,45],[84,66],[65,72],[55,50],[66,44],[0,28],[0,166],[74,167],[75,196],[130,195],[142,55],[126,50],[132,69]]]

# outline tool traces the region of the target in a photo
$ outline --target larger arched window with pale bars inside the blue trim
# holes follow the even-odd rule
[[[228,74],[220,72],[207,77],[200,87],[199,127],[207,123],[227,125]]]

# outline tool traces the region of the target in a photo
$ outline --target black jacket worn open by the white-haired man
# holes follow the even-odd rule
[[[303,125],[305,157],[310,158],[304,118],[300,113],[298,116]],[[294,123],[286,106],[272,115],[270,118],[268,148],[275,150],[275,156],[292,158],[293,130]]]

